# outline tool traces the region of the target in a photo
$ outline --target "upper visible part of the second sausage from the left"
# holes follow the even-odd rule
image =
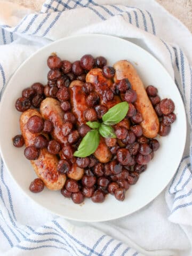
[[[64,112],[60,107],[60,102],[53,98],[44,99],[40,106],[40,113],[44,119],[53,123],[52,137],[61,145],[67,144],[67,137],[62,133]]]

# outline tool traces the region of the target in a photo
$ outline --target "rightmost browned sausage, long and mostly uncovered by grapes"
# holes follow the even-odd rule
[[[133,65],[126,61],[120,60],[114,64],[115,77],[114,80],[118,83],[123,78],[128,78],[132,89],[137,93],[137,100],[134,105],[140,111],[143,121],[140,123],[143,135],[148,138],[156,137],[159,130],[159,121],[155,110],[148,98],[145,87],[137,74]]]

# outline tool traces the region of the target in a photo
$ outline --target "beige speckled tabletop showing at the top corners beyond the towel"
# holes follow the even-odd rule
[[[7,0],[9,2],[18,3],[22,6],[41,10],[45,0]],[[167,11],[183,22],[192,32],[192,0],[156,0],[159,4],[165,7]]]

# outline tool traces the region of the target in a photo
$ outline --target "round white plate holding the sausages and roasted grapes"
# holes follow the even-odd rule
[[[12,137],[20,134],[19,113],[14,103],[21,91],[33,84],[46,84],[47,57],[56,52],[61,59],[78,60],[86,53],[94,57],[103,55],[109,65],[127,59],[137,68],[145,84],[154,85],[161,98],[171,98],[175,103],[177,121],[171,126],[169,136],[158,138],[161,148],[155,153],[147,171],[140,175],[136,185],[126,193],[123,202],[108,195],[105,202],[95,204],[86,199],[83,205],[74,204],[63,197],[60,191],[44,189],[42,193],[29,191],[35,172],[23,155],[23,148],[12,145]],[[179,91],[170,75],[152,55],[141,47],[117,37],[105,35],[80,35],[54,42],[33,54],[15,72],[3,94],[0,109],[0,145],[4,163],[19,187],[35,202],[62,217],[78,221],[106,221],[133,213],[151,202],[166,187],[173,177],[183,154],[186,141],[186,115]],[[178,135],[179,134],[179,135]]]

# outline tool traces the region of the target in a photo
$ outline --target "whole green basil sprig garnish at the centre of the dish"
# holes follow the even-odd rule
[[[102,117],[103,123],[86,122],[86,124],[94,130],[87,132],[82,139],[74,156],[86,157],[94,153],[99,146],[99,134],[104,138],[116,138],[115,131],[111,125],[121,122],[129,110],[129,104],[124,101],[110,108]]]

